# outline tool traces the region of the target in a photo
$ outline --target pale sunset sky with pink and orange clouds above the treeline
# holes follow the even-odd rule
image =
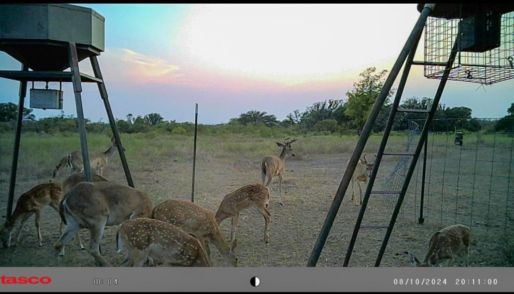
[[[198,120],[206,124],[250,109],[282,120],[314,102],[345,99],[365,68],[392,68],[419,17],[415,4],[77,5],[105,17],[106,49],[98,60],[116,118],[160,113],[165,120],[194,121],[198,103]],[[415,60],[423,60],[423,49],[422,39]],[[20,67],[0,52],[1,69]],[[79,67],[92,75],[88,60]],[[437,84],[414,66],[402,99],[433,97]],[[18,82],[0,79],[0,102],[17,104],[18,89]],[[71,84],[63,91],[65,114],[76,115]],[[86,118],[107,121],[96,85],[83,84],[82,100]],[[505,116],[513,101],[510,80],[484,87],[449,81],[441,102],[493,118]],[[60,111],[33,113],[42,118]]]

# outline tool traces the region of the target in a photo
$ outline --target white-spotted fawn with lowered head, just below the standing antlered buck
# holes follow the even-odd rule
[[[268,228],[271,223],[271,213],[266,209],[269,203],[269,189],[261,184],[247,185],[225,195],[216,212],[216,222],[221,223],[225,218],[232,218],[230,242],[235,240],[235,231],[242,210],[253,206],[264,216],[264,242],[269,243]]]

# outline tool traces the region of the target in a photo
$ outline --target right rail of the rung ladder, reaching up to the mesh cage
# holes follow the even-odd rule
[[[409,182],[411,180],[411,176],[414,172],[414,169],[416,167],[416,162],[419,158],[419,154],[421,153],[421,147],[425,143],[425,140],[428,137],[428,130],[430,127],[430,124],[432,123],[432,119],[434,118],[435,112],[437,110],[437,105],[439,104],[439,100],[441,96],[443,95],[443,91],[446,86],[446,82],[448,81],[448,76],[450,76],[450,71],[453,66],[453,62],[455,61],[455,57],[457,56],[457,47],[458,47],[458,40],[460,38],[456,38],[455,43],[453,44],[453,49],[450,53],[450,57],[448,58],[448,62],[446,63],[445,71],[443,73],[443,77],[441,78],[441,81],[439,82],[439,86],[437,87],[437,91],[435,93],[434,102],[432,104],[432,108],[430,109],[430,113],[428,114],[427,120],[425,121],[425,125],[423,126],[423,131],[421,131],[421,136],[419,138],[419,143],[416,146],[416,152],[412,158],[411,164],[409,166],[409,170],[407,171],[407,175],[405,176],[405,182],[403,182],[403,186],[401,187],[400,195],[398,196],[398,200],[396,202],[396,206],[393,211],[393,216],[391,217],[391,222],[389,223],[388,230],[386,232],[386,236],[384,236],[384,240],[382,242],[382,246],[380,247],[380,251],[378,252],[378,257],[375,262],[375,266],[380,266],[380,262],[382,261],[382,256],[384,252],[386,251],[387,244],[389,242],[389,238],[391,237],[391,232],[393,231],[394,224],[396,222],[396,217],[398,217],[398,212],[400,211],[401,203],[403,202],[403,198],[405,197],[405,194],[407,193],[407,189],[409,188]]]

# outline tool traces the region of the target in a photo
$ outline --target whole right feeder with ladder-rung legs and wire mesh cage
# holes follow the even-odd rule
[[[386,230],[380,246],[375,266],[380,266],[383,254],[386,250],[396,218],[417,160],[427,140],[428,131],[439,100],[443,94],[448,80],[465,81],[481,84],[493,84],[514,78],[514,4],[418,4],[420,16],[414,28],[403,46],[390,74],[375,100],[368,120],[361,132],[355,150],[348,161],[339,188],[333,203],[328,210],[325,222],[318,235],[307,266],[316,266],[328,234],[334,224],[334,220],[341,206],[343,197],[352,175],[361,157],[362,151],[371,134],[373,125],[380,110],[390,93],[391,87],[397,78],[401,68],[403,72],[398,84],[386,129],[377,152],[377,158],[370,175],[368,187],[362,199],[362,206],[357,217],[353,234],[346,251],[343,266],[348,266],[357,236],[361,229]],[[414,53],[418,46],[421,34],[425,28],[425,60],[414,61]],[[425,77],[439,79],[439,85],[435,92],[433,103],[429,109],[403,109],[399,108],[400,99],[407,83],[407,78],[412,65],[423,65]],[[386,146],[397,113],[426,114],[425,124],[420,133],[420,139],[416,149],[405,152],[387,151]],[[462,142],[461,138],[458,139]],[[425,148],[426,153],[426,148]],[[375,178],[383,156],[400,156],[406,159],[408,167],[405,179],[394,191],[380,191],[373,189]],[[395,196],[396,205],[391,212],[389,223],[386,224],[362,224],[363,216],[368,206],[370,196]],[[421,208],[422,210],[423,208]]]

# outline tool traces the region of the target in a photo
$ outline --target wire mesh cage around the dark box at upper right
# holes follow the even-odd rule
[[[483,15],[489,17],[485,13]],[[449,80],[490,85],[514,78],[514,12],[493,15],[491,19],[484,21],[480,15],[464,19],[458,15],[453,15],[451,19],[429,17],[425,26],[425,77],[442,78],[445,64],[460,33],[459,52]],[[480,24],[484,26],[479,28]],[[497,30],[496,33],[489,33],[490,26]],[[482,43],[470,47],[469,43],[476,40]],[[491,47],[494,48],[489,49]],[[476,52],[484,49],[488,50]]]

